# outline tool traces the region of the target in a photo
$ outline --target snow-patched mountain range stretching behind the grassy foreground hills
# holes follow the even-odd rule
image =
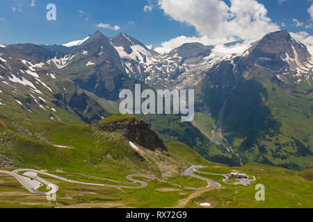
[[[313,47],[287,31],[217,46],[188,43],[164,55],[99,31],[63,46],[0,47],[0,114],[12,121],[90,124],[118,113],[135,84],[195,89],[195,119],[138,115],[165,142],[207,160],[313,167]],[[4,155],[4,153],[1,153]]]

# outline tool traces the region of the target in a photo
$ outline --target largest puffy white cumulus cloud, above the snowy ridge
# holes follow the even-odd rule
[[[177,22],[195,27],[200,40],[214,44],[220,40],[260,39],[280,27],[269,17],[265,6],[256,0],[158,0],[159,8]],[[197,40],[196,37],[177,37],[177,40]]]

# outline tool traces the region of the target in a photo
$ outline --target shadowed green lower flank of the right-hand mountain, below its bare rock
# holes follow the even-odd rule
[[[223,75],[233,76],[232,70],[226,69]],[[244,163],[296,170],[313,167],[312,89],[308,85],[284,83],[259,67],[231,84],[211,87],[220,83],[219,78],[212,74],[203,87],[209,111],[195,116],[202,132],[215,139],[211,130],[224,108],[223,136]]]

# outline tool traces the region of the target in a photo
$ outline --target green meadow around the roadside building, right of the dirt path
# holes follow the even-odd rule
[[[307,171],[292,171],[264,164],[247,164],[244,167],[230,168],[212,163],[202,169],[210,173],[229,173],[239,170],[247,175],[255,176],[257,180],[250,187],[242,185],[226,185],[221,176],[209,176],[223,185],[223,189],[205,191],[188,203],[188,207],[198,207],[198,203],[212,203],[214,207],[278,207],[300,208],[313,207],[312,169]],[[203,176],[203,175],[202,175]],[[307,180],[311,178],[311,180]],[[265,201],[255,200],[256,184],[265,187]]]

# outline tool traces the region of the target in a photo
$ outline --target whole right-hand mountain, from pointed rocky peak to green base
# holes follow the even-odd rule
[[[215,124],[204,131],[243,162],[310,168],[312,84],[307,46],[287,31],[270,33],[207,71],[198,105]]]

